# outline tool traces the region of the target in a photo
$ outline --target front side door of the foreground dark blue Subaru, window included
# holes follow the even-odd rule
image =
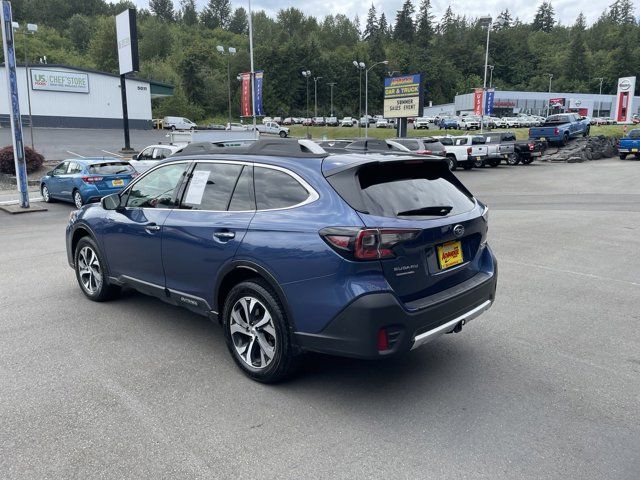
[[[124,209],[109,211],[102,238],[111,276],[147,293],[162,293],[162,228],[188,165],[165,165],[141,177],[122,193]]]

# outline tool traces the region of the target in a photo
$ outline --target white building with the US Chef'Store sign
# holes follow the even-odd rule
[[[29,75],[18,65],[18,95],[23,124],[28,124],[29,103],[35,127],[122,128],[120,77],[68,65],[30,65]],[[0,90],[6,91],[6,69],[0,64]],[[129,127],[153,128],[151,100],[173,94],[160,82],[127,77]],[[0,127],[9,126],[9,98],[0,94]]]

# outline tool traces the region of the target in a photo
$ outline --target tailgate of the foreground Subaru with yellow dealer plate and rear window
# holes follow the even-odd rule
[[[354,185],[348,188],[362,194],[362,204],[352,206],[367,227],[386,229],[387,235],[394,229],[417,232],[414,239],[393,248],[393,258],[380,260],[400,299],[417,300],[478,273],[486,221],[444,162],[369,163],[355,173]],[[338,193],[348,185],[332,184]]]

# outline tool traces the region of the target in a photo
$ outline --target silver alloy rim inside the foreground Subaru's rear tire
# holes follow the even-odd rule
[[[231,340],[236,353],[252,369],[269,366],[277,348],[273,318],[264,304],[255,297],[243,296],[231,309],[229,319]]]

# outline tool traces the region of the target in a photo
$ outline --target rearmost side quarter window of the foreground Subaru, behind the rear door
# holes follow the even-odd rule
[[[254,183],[258,210],[287,208],[309,198],[309,192],[288,173],[255,167]]]

